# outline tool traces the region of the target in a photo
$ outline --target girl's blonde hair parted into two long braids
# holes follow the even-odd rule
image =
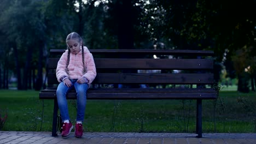
[[[83,43],[83,39],[80,37],[80,35],[76,32],[72,32],[72,33],[69,33],[67,35],[67,38],[66,38],[66,42],[68,40],[71,40],[71,39],[74,39],[74,40],[77,40],[79,43],[82,42],[82,58],[83,58],[83,66],[84,66],[84,43]],[[68,55],[67,55],[67,64],[66,64],[66,71],[68,73],[68,64],[69,64],[69,61],[70,61],[70,49],[69,47],[67,46],[67,49],[68,49]],[[84,67],[84,71],[86,71],[85,67]]]

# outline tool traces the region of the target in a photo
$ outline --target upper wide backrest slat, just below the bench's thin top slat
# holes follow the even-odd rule
[[[49,69],[56,69],[59,58],[49,58]],[[95,58],[97,69],[212,69],[212,59],[126,59]]]

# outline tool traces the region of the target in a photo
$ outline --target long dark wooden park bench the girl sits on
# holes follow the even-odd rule
[[[39,99],[54,100],[53,136],[57,135],[56,87],[59,84],[55,69],[64,51],[50,50],[48,87],[39,93]],[[88,90],[88,99],[196,99],[196,134],[202,137],[202,99],[217,98],[217,91],[212,87],[213,51],[92,49],[90,52],[95,59],[97,76]],[[154,55],[165,58],[153,58]],[[147,73],[137,73],[137,70]],[[162,73],[150,73],[150,70]],[[172,73],[172,70],[180,71]],[[114,87],[104,87],[110,84]],[[126,88],[115,88],[119,84]],[[159,86],[138,88],[141,84]],[[165,88],[170,85],[183,88]],[[69,92],[67,99],[76,99],[75,91]]]

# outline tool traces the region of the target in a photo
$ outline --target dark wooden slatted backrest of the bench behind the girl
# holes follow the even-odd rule
[[[55,69],[65,50],[50,50],[48,85],[58,84]],[[90,50],[97,76],[94,84],[212,85],[213,51]],[[154,58],[160,56],[162,58]],[[161,73],[155,73],[160,71]],[[179,73],[173,73],[179,70]],[[140,72],[140,73],[138,73]]]

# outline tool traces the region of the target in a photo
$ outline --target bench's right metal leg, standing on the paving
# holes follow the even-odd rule
[[[196,101],[196,134],[202,137],[202,99]]]

